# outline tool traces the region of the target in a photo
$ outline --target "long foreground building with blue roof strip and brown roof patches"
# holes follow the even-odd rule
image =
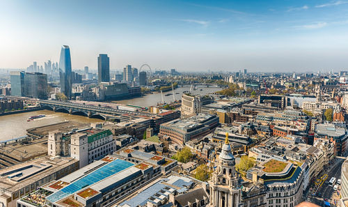
[[[17,207],[113,206],[176,166],[175,160],[127,148],[42,186],[18,200]],[[180,183],[174,183],[177,177],[169,181],[171,186],[192,184],[185,178]]]

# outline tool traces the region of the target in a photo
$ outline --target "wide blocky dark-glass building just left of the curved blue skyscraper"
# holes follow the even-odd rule
[[[26,97],[47,99],[47,74],[26,72],[24,75],[24,94]]]

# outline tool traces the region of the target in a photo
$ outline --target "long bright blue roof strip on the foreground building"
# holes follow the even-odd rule
[[[47,200],[51,201],[52,203],[59,201],[64,197],[67,197],[70,194],[74,194],[84,187],[87,187],[88,185],[93,185],[94,183],[102,181],[109,176],[117,174],[119,171],[132,167],[133,165],[134,164],[132,164],[131,162],[127,162],[125,160],[113,160],[109,164],[105,164],[103,167],[96,169],[87,176],[74,181],[74,183],[71,183],[70,185],[62,188],[58,192],[49,195],[49,197],[47,197]]]

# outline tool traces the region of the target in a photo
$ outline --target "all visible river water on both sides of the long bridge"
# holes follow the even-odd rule
[[[195,94],[201,94],[205,95],[207,93],[213,93],[215,91],[221,90],[219,87],[209,86],[207,88],[206,86],[197,86],[198,89],[195,91],[191,91],[191,93]],[[184,87],[178,87],[175,89],[175,98],[176,100],[180,100],[182,96],[182,92],[189,91],[190,86],[184,86]],[[202,91],[200,91],[202,89]],[[163,93],[164,101],[165,102],[172,102],[173,101],[173,95],[168,95],[168,93],[173,93],[172,91],[167,91]],[[115,101],[120,104],[124,105],[138,105],[143,107],[153,106],[157,105],[157,102],[161,102],[161,93],[152,93],[148,95],[144,95],[139,98],[133,98],[128,100],[120,100]],[[38,118],[34,121],[27,121],[27,119],[30,116],[35,116],[39,114],[45,114],[46,117],[44,118]],[[17,137],[22,137],[26,135],[26,130],[29,128],[35,128],[40,127],[42,125],[49,125],[54,123],[61,123],[63,121],[77,121],[80,123],[95,123],[95,122],[102,122],[102,120],[97,118],[88,118],[85,116],[77,116],[77,115],[70,115],[60,112],[52,112],[48,110],[41,110],[37,112],[27,112],[22,114],[11,114],[6,116],[0,116],[0,141],[13,139]]]

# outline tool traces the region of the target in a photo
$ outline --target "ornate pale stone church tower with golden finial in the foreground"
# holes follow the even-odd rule
[[[216,169],[209,183],[210,207],[238,207],[241,201],[242,188],[240,176],[235,170],[235,158],[226,133]]]

